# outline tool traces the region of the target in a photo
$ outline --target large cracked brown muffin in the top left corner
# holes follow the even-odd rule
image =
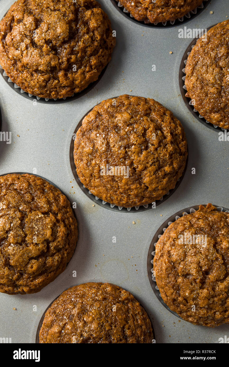
[[[65,98],[97,80],[115,37],[94,0],[18,0],[0,22],[0,63],[22,90]]]

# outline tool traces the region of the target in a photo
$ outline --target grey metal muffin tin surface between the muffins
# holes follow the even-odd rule
[[[76,202],[79,226],[74,255],[54,282],[36,294],[0,294],[0,337],[10,337],[12,343],[35,343],[44,311],[62,291],[87,281],[108,281],[140,301],[153,322],[156,343],[218,343],[220,337],[228,335],[229,326],[194,326],[169,312],[147,279],[146,260],[158,228],[181,208],[208,202],[229,208],[228,142],[219,141],[217,129],[200,123],[183,101],[180,63],[190,39],[178,38],[178,29],[184,25],[205,29],[228,19],[229,3],[211,0],[185,23],[143,27],[126,19],[111,1],[99,1],[117,32],[117,45],[103,77],[85,95],[68,103],[34,105],[32,99],[22,98],[0,78],[2,130],[12,132],[11,144],[0,142],[0,175],[36,168],[37,175],[54,182],[71,203]],[[0,18],[13,2],[1,4]],[[154,98],[174,113],[186,132],[189,160],[185,176],[173,195],[152,210],[111,211],[89,200],[69,163],[72,133],[82,116],[102,100],[121,94]],[[196,174],[192,174],[193,167]],[[72,277],[74,270],[76,278]]]

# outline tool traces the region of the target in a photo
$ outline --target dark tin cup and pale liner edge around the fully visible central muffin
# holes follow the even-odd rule
[[[112,97],[112,98],[118,98],[118,97]],[[100,103],[98,103],[100,104]],[[94,108],[94,107],[93,107]],[[102,199],[100,199],[97,196],[94,196],[90,190],[88,190],[83,183],[80,181],[79,176],[77,175],[76,172],[76,166],[75,166],[75,162],[74,162],[74,142],[75,140],[73,139],[73,136],[76,134],[76,132],[79,130],[80,126],[82,125],[82,121],[83,119],[89,114],[89,112],[91,112],[93,110],[93,108],[91,108],[84,116],[83,118],[80,120],[80,122],[78,123],[74,133],[72,134],[72,139],[71,139],[71,144],[70,144],[70,150],[69,150],[69,159],[70,159],[70,164],[71,164],[71,169],[72,169],[72,173],[74,175],[74,178],[76,180],[76,182],[78,183],[80,189],[87,195],[87,197],[89,197],[92,201],[94,201],[94,203],[99,204],[100,206],[113,210],[113,211],[118,211],[118,212],[122,212],[122,213],[130,213],[130,212],[141,212],[141,211],[146,211],[149,209],[155,209],[153,206],[153,203],[150,204],[145,204],[145,205],[141,205],[141,206],[134,206],[134,207],[129,207],[129,208],[125,208],[125,207],[121,207],[121,206],[117,206],[115,204],[110,204],[107,201],[104,201]],[[187,168],[187,162],[188,162],[188,156],[187,156],[187,160],[186,160],[186,164],[185,164],[185,168],[184,171],[182,173],[182,176],[178,179],[178,181],[176,182],[175,188],[174,189],[170,189],[164,196],[161,197],[160,200],[155,200],[155,206],[156,208],[158,207],[158,205],[160,205],[161,203],[163,203],[165,200],[167,200],[175,191],[176,189],[179,187],[185,172],[186,172],[186,168]]]

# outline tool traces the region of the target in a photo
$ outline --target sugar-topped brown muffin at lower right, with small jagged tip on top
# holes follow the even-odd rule
[[[163,301],[182,319],[229,323],[229,213],[208,204],[173,222],[156,244],[154,274]]]

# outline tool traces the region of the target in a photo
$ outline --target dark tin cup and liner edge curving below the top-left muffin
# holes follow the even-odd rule
[[[83,97],[83,95],[87,94],[90,90],[92,90],[97,83],[99,83],[101,77],[104,75],[105,70],[107,68],[107,65],[105,66],[105,68],[101,71],[99,78],[96,81],[93,81],[93,83],[90,83],[89,86],[85,89],[83,89],[81,92],[78,93],[74,93],[71,97],[66,97],[66,98],[56,98],[56,99],[51,99],[51,98],[41,98],[41,97],[37,97],[33,94],[27,93],[24,90],[22,90],[17,84],[15,84],[10,77],[8,77],[8,75],[6,74],[6,72],[4,71],[3,67],[0,65],[0,73],[3,76],[4,80],[7,82],[7,84],[14,90],[16,91],[19,95],[22,95],[23,97],[30,99],[32,102],[39,102],[39,103],[50,103],[50,104],[55,104],[55,103],[65,103],[65,102],[71,102],[74,101],[75,99],[78,99],[80,97]]]

